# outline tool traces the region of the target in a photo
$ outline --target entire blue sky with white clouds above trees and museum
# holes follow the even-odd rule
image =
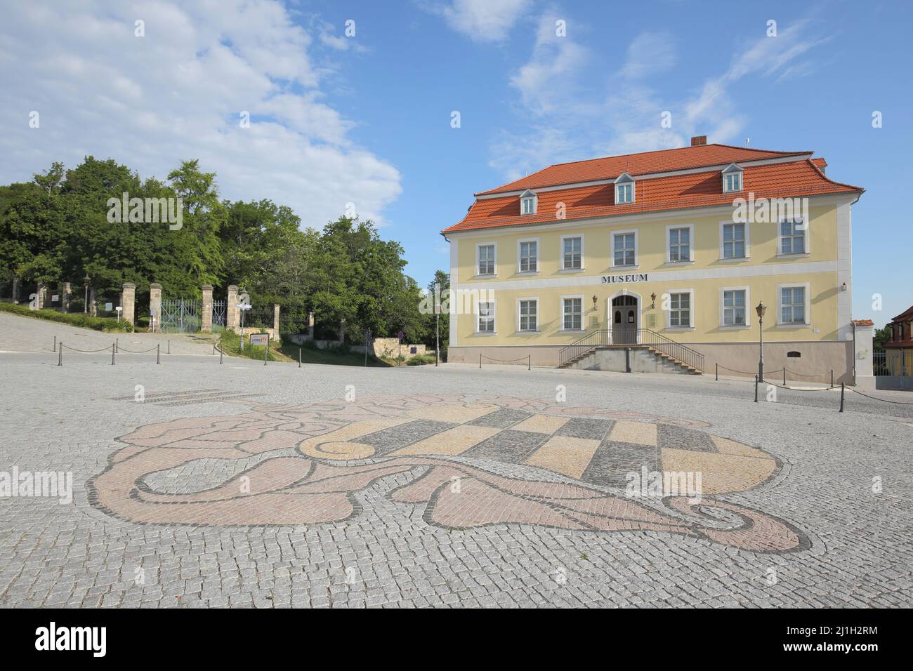
[[[880,326],[913,303],[911,19],[900,2],[14,4],[0,29],[0,179],[85,153],[160,177],[199,157],[226,197],[273,198],[306,225],[354,203],[425,284],[448,263],[438,232],[474,192],[693,134],[750,138],[813,150],[828,176],[866,188],[854,317]],[[21,128],[33,109],[40,135]]]

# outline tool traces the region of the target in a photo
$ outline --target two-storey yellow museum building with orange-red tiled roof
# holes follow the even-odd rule
[[[762,303],[769,375],[852,383],[863,189],[826,165],[697,137],[475,194],[443,231],[448,361],[753,375]]]

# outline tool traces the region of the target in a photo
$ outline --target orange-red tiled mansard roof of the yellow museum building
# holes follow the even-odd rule
[[[863,189],[851,184],[829,180],[822,168],[824,159],[810,159],[811,152],[766,152],[758,149],[730,147],[726,144],[706,144],[661,152],[645,152],[628,156],[614,156],[578,163],[552,165],[516,182],[499,186],[483,194],[521,189],[535,190],[545,185],[567,183],[566,189],[542,191],[537,194],[537,214],[520,215],[519,196],[509,194],[477,198],[466,216],[443,233],[496,228],[511,225],[544,224],[559,221],[557,205],[565,207],[563,220],[587,219],[643,212],[677,210],[687,207],[731,204],[737,196],[755,198],[785,198],[817,194],[862,193]],[[626,172],[637,174],[657,173],[745,163],[762,159],[795,157],[785,163],[767,163],[743,167],[743,191],[738,194],[722,193],[722,175],[719,167],[706,172],[671,174],[668,176],[635,179],[635,203],[614,204],[614,184],[603,183],[575,186],[575,183],[615,178]],[[477,194],[481,195],[481,194]]]

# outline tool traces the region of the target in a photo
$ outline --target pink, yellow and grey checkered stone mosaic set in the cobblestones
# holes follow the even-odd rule
[[[89,482],[142,524],[313,525],[362,514],[374,486],[429,525],[647,531],[745,550],[807,548],[790,523],[725,500],[779,471],[756,447],[671,417],[464,394],[229,403],[243,414],[146,425]],[[632,473],[699,473],[701,497],[632,497]],[[393,483],[393,486],[391,486]]]

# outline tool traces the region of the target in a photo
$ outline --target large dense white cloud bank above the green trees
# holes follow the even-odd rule
[[[394,166],[354,145],[353,122],[324,100],[314,52],[327,31],[296,25],[278,2],[31,2],[4,20],[0,183],[86,154],[160,179],[199,158],[224,197],[271,198],[314,226],[350,202],[383,222],[401,193]]]

